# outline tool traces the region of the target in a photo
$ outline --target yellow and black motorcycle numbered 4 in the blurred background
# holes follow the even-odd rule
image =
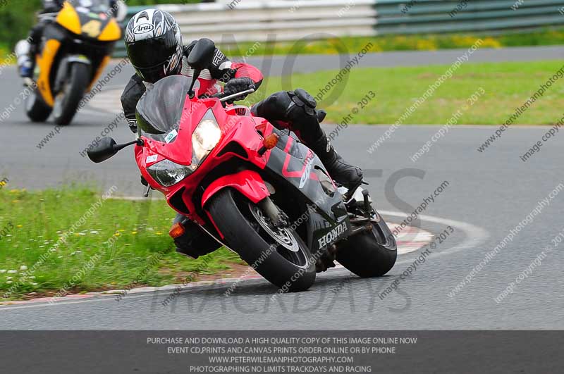
[[[108,0],[68,0],[51,15],[36,56],[35,89],[25,105],[32,121],[44,122],[53,113],[57,125],[71,123],[121,39],[113,11]]]

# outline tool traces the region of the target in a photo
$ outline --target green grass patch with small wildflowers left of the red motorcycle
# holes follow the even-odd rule
[[[40,256],[71,229],[72,225],[99,200],[100,194],[87,187],[65,187],[43,192],[0,190],[0,298],[29,272]],[[119,289],[137,280],[138,285],[165,285],[184,279],[192,271],[201,275],[227,270],[241,263],[238,256],[220,249],[197,260],[176,254],[168,230],[174,216],[165,201],[124,201],[109,199],[92,217],[78,227],[42,266],[11,295],[30,292],[52,294],[68,285],[86,269],[72,288],[73,293],[98,289]],[[12,227],[12,228],[11,228]],[[114,238],[109,246],[107,241]],[[162,253],[156,266],[154,256]],[[85,267],[90,258],[94,267]],[[26,270],[20,270],[27,266]],[[30,274],[27,274],[29,276]],[[12,277],[8,280],[8,277]],[[11,281],[12,283],[9,283]]]

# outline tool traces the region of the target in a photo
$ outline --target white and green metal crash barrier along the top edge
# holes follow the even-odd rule
[[[223,44],[564,25],[564,0],[219,0],[157,7],[175,16],[186,41]],[[130,7],[128,15],[143,8]],[[120,44],[116,54],[124,52]]]

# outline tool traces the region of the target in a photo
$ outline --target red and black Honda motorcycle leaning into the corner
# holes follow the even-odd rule
[[[226,104],[253,87],[198,98],[194,86],[214,49],[198,43],[188,58],[192,78],[166,77],[147,90],[137,140],[104,138],[90,159],[135,144],[147,194],[157,189],[180,213],[170,235],[188,256],[223,245],[284,291],[308,289],[335,260],[360,277],[387,273],[396,240],[365,189],[337,187],[311,149],[250,108]]]

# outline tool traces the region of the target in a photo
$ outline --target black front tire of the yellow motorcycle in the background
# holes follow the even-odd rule
[[[53,120],[57,125],[64,126],[71,123],[89,83],[90,66],[84,63],[73,63],[71,77],[63,87],[62,96],[57,95],[55,99]]]

